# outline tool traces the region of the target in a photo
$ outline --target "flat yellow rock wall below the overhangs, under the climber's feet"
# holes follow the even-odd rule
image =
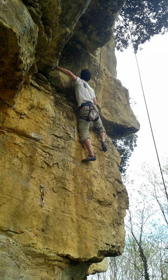
[[[121,254],[128,202],[118,152],[107,137],[103,153],[91,130],[97,161],[82,164],[86,151],[74,111],[60,96],[34,86],[22,89],[15,109],[1,102],[1,233],[31,258],[53,254],[63,263],[92,263]]]

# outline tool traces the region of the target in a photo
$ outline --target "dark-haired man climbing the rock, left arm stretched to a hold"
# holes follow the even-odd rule
[[[83,159],[82,162],[95,161],[96,156],[93,153],[92,144],[89,139],[90,120],[94,122],[94,126],[99,132],[102,150],[104,152],[107,151],[107,147],[105,145],[106,131],[98,115],[95,93],[93,88],[87,83],[91,79],[91,73],[88,69],[83,69],[80,72],[79,78],[67,69],[59,66],[56,69],[69,76],[75,85],[75,95],[79,109],[79,139],[81,143],[84,143],[86,149],[88,150],[88,156]]]

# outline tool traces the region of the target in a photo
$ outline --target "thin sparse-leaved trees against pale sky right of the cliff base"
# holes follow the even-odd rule
[[[157,172],[145,166],[147,182],[135,186],[129,182],[129,211],[125,219],[126,245],[121,256],[108,259],[105,273],[88,280],[167,280],[168,279],[168,162],[163,168],[166,191]]]

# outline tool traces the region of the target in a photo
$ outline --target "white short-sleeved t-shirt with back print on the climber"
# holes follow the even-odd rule
[[[87,102],[93,103],[93,97],[95,97],[93,88],[89,86],[89,84],[86,81],[80,79],[79,77],[77,77],[77,80],[74,82],[74,84],[78,106]]]

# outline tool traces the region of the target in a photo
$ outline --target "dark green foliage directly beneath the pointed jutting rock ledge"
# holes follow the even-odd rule
[[[120,153],[120,166],[119,170],[121,175],[125,175],[126,169],[129,166],[129,158],[136,147],[137,134],[129,134],[128,136],[122,137],[120,139],[112,139],[117,151]]]

